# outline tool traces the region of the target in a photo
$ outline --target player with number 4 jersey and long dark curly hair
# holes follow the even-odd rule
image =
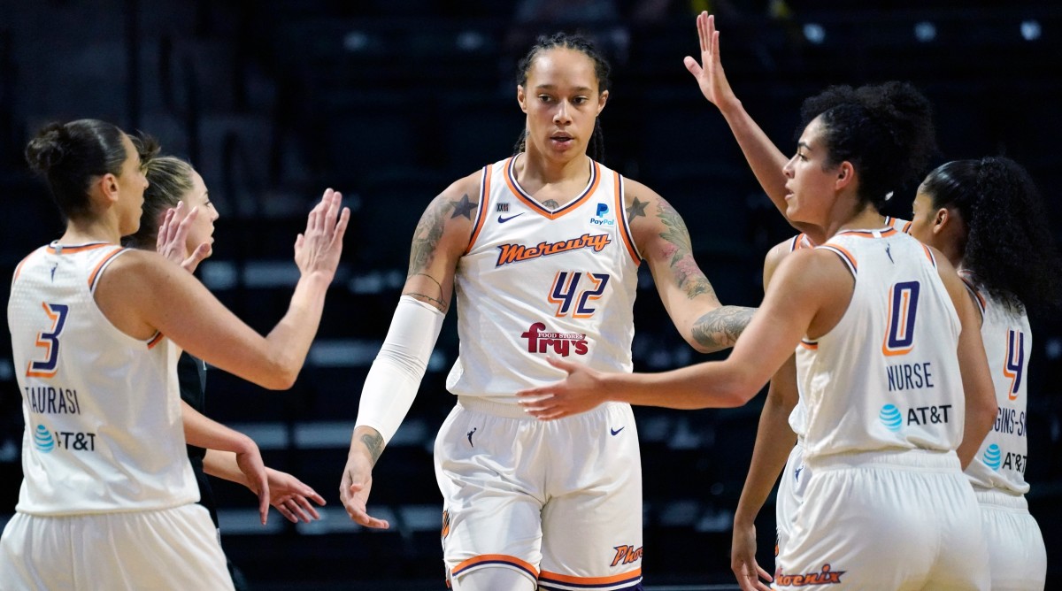
[[[990,157],[929,173],[913,210],[911,236],[959,270],[981,317],[999,410],[965,471],[981,508],[992,589],[1044,589],[1047,551],[1025,500],[1032,350],[1026,311],[1057,309],[1062,262],[1043,201],[1017,162]]]

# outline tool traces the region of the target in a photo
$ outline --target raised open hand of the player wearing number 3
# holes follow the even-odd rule
[[[325,189],[325,194],[310,211],[306,231],[295,239],[295,264],[303,275],[323,273],[329,280],[335,276],[343,253],[343,234],[350,220],[350,210],[341,207],[342,204],[342,194]]]

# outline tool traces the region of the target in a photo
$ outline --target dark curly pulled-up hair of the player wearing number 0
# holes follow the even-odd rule
[[[832,86],[804,101],[796,136],[816,118],[824,128],[826,166],[852,162],[859,199],[879,210],[925,171],[937,151],[932,107],[908,83]]]

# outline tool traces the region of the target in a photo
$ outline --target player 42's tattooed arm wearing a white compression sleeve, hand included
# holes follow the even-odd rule
[[[479,202],[480,173],[435,197],[421,216],[410,247],[409,273],[383,347],[362,387],[358,420],[340,482],[340,500],[350,519],[366,527],[389,527],[369,515],[373,467],[398,429],[434,348],[450,307],[453,275],[468,246]]]

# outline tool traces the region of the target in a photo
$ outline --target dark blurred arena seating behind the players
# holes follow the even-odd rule
[[[292,525],[218,483],[223,543],[256,589],[442,589],[434,433],[452,405],[447,319],[409,418],[375,474],[387,532],[354,525],[338,485],[361,381],[405,279],[426,204],[452,179],[511,153],[521,129],[515,63],[536,32],[583,30],[614,72],[601,121],[607,166],[656,189],[685,216],[701,267],[727,303],[755,306],[763,257],[793,232],[761,193],[682,65],[693,14],[717,14],[727,76],[789,152],[801,99],[828,84],[909,80],[933,101],[945,159],[1007,154],[1032,172],[1059,226],[1062,8],[987,0],[759,2],[633,0],[0,0],[0,271],[62,232],[21,152],[50,120],[101,118],[190,158],[221,212],[200,276],[252,326],[284,313],[295,233],[325,187],[354,212],[320,335],[288,393],[210,372],[209,414],[251,434],[267,464],[328,499]],[[909,215],[913,188],[892,199]],[[1058,238],[1059,232],[1056,231]],[[1029,256],[1037,256],[1030,253]],[[702,358],[675,334],[648,274],[635,366]],[[6,296],[7,282],[3,282]],[[4,297],[6,299],[6,297]],[[1034,317],[1028,496],[1062,574],[1062,323]],[[718,357],[718,355],[717,355]],[[0,524],[21,479],[20,397],[0,340]],[[763,396],[732,411],[638,409],[647,589],[730,588],[730,525]],[[144,441],[144,445],[151,445]],[[773,506],[758,522],[773,553]]]

